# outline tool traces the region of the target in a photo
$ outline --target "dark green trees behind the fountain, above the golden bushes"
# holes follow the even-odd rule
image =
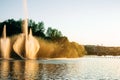
[[[0,35],[2,35],[3,26],[6,25],[6,32],[7,36],[12,36],[15,34],[22,33],[22,19],[14,20],[14,19],[8,19],[4,22],[0,22]],[[33,35],[39,36],[42,38],[58,38],[62,37],[61,31],[54,29],[52,27],[48,27],[47,31],[45,31],[44,22],[38,22],[28,19],[28,31],[29,29],[32,29]]]

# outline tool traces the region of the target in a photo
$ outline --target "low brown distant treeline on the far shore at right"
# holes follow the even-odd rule
[[[87,55],[120,55],[120,47],[85,45]]]

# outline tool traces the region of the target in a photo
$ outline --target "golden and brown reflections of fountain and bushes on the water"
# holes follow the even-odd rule
[[[53,64],[39,60],[1,60],[0,80],[72,80],[76,73],[79,73],[78,69],[76,64]]]

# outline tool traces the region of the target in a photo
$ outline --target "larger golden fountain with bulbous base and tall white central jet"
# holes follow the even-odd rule
[[[28,35],[28,20],[27,20],[27,0],[24,1],[25,20],[23,21],[22,31],[23,34],[18,37],[13,45],[14,51],[22,58],[36,59],[36,54],[39,51],[40,45],[33,37],[32,30]]]

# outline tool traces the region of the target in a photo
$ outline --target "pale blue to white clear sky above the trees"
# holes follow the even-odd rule
[[[84,45],[120,46],[120,0],[27,0],[28,18]],[[23,0],[0,0],[0,22],[24,19]]]

